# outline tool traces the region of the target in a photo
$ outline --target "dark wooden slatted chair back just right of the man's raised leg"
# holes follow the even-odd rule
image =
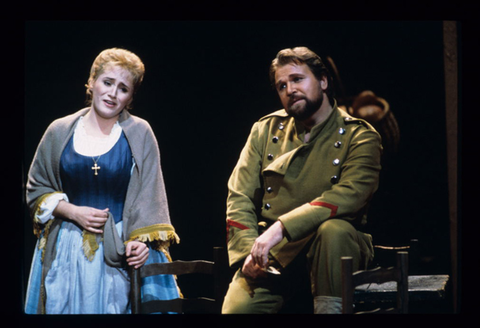
[[[354,313],[355,287],[388,281],[397,282],[396,308],[380,309],[360,313],[407,313],[408,312],[408,252],[397,252],[397,265],[389,268],[375,268],[353,272],[352,257],[342,257],[342,312]]]

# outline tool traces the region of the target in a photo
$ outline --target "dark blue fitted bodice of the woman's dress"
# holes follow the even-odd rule
[[[60,159],[63,192],[77,206],[108,208],[117,223],[122,220],[132,165],[132,152],[123,132],[108,152],[93,157],[77,153],[72,137]]]

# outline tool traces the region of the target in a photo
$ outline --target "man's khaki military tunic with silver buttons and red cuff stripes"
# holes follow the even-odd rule
[[[258,222],[282,221],[287,237],[271,255],[287,266],[331,218],[355,227],[378,188],[381,138],[366,121],[334,105],[310,131],[285,110],[256,122],[228,181],[230,265],[240,266],[259,235]]]

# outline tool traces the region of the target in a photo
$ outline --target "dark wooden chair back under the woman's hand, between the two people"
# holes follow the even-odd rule
[[[222,263],[223,248],[214,248],[214,260],[173,261],[170,263],[154,263],[144,265],[130,271],[130,301],[132,314],[149,313],[220,313],[223,301]],[[213,275],[214,298],[176,298],[172,300],[154,300],[142,302],[141,279],[159,274],[206,274]],[[181,287],[181,286],[180,286]]]

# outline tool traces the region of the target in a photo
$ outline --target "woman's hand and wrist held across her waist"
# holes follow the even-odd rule
[[[72,220],[89,232],[103,233],[101,228],[107,222],[108,208],[99,210],[88,206],[76,206],[61,200],[53,211],[53,215]]]

